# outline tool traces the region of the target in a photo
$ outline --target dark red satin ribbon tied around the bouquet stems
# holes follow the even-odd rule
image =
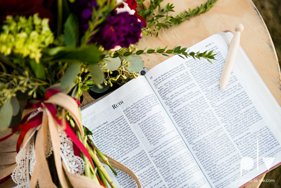
[[[52,114],[53,118],[57,121],[57,123],[60,126],[62,126],[62,120],[58,119],[57,116],[56,116],[56,114],[57,114],[56,107],[51,103],[44,103],[45,100],[49,99],[53,94],[56,94],[58,92],[60,92],[60,91],[57,90],[57,89],[47,90],[43,100],[40,100],[40,102],[38,102],[37,104],[27,104],[25,109],[32,109],[32,108],[39,108],[39,107],[43,108],[43,104],[44,104],[44,106],[49,110],[49,112]],[[79,100],[75,99],[75,101],[77,102],[78,106],[81,105]],[[35,111],[38,111],[38,110],[35,110]],[[33,112],[35,112],[35,111],[33,111]],[[31,113],[25,115],[22,118],[21,124],[15,125],[15,126],[12,127],[12,133],[10,135],[7,135],[7,136],[0,139],[0,142],[2,142],[3,140],[6,140],[7,138],[11,137],[15,132],[21,131],[21,133],[19,135],[19,138],[17,140],[17,153],[19,152],[20,146],[22,145],[22,140],[23,140],[24,136],[26,135],[27,131],[29,129],[32,129],[33,127],[37,127],[40,124],[42,124],[42,116],[43,116],[42,112],[40,112],[35,117],[33,117],[33,118],[31,118],[27,121],[30,114]],[[93,161],[91,159],[91,156],[90,156],[88,150],[81,143],[81,141],[77,138],[76,134],[71,129],[71,126],[69,125],[69,123],[66,120],[65,120],[65,124],[66,124],[66,129],[64,131],[66,132],[67,136],[72,140],[72,142],[74,144],[73,147],[77,147],[84,155],[86,155],[88,160],[91,162],[91,165],[92,165],[93,169],[95,169]],[[76,151],[76,153],[77,153],[77,151]],[[101,185],[105,187],[105,185],[101,182],[101,180],[99,178],[98,178],[98,180],[101,183]],[[0,182],[0,184],[1,184],[1,182]]]

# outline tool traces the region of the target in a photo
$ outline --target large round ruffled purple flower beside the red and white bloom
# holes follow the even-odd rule
[[[101,44],[105,50],[114,48],[117,45],[129,47],[141,38],[142,22],[138,22],[135,15],[128,12],[114,13],[106,19],[106,24],[100,26],[100,30],[93,36],[92,42]]]

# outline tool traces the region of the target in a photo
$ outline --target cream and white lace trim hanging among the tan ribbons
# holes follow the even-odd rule
[[[38,130],[41,126],[38,126]],[[73,174],[81,175],[85,169],[84,160],[74,155],[73,143],[70,138],[67,137],[67,134],[58,126],[59,130],[59,140],[60,140],[60,155],[63,162],[65,163],[67,170]],[[29,174],[32,175],[34,166],[36,163],[35,149],[34,149],[34,131],[30,137],[27,139],[27,142],[19,151],[16,156],[17,167],[12,172],[12,180],[17,184],[16,188],[31,188]],[[49,157],[52,154],[52,142],[50,131],[47,129],[46,136],[46,147],[45,147],[45,157]],[[36,187],[39,187],[38,183]],[[55,187],[55,185],[54,185]]]

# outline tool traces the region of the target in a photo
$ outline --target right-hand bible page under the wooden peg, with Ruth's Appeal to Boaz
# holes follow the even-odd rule
[[[268,114],[252,89],[254,84],[249,85],[239,68],[237,61],[245,63],[246,54],[244,58],[236,57],[229,84],[220,89],[228,45],[215,34],[192,46],[189,52],[205,50],[217,53],[213,64],[204,58],[183,59],[176,55],[152,68],[145,77],[212,187],[238,188],[281,161],[281,134],[277,128],[281,121]],[[251,66],[249,69],[256,71]],[[280,106],[276,109],[279,112]]]

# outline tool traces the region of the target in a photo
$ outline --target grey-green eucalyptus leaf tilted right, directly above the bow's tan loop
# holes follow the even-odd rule
[[[76,75],[79,72],[80,64],[79,63],[72,63],[69,65],[67,70],[65,71],[64,75],[61,78],[61,84],[63,86],[67,86],[73,82]]]

